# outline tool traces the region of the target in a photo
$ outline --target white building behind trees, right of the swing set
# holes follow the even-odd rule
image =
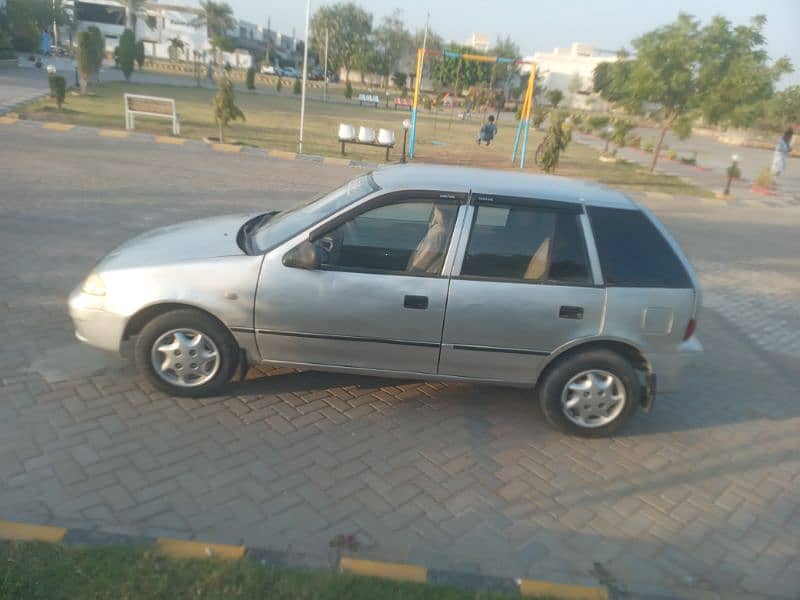
[[[554,48],[552,52],[536,52],[525,61],[536,63],[541,85],[548,90],[564,93],[563,105],[572,108],[598,109],[603,101],[594,93],[594,69],[604,62],[617,60],[613,52],[595,50],[589,44],[573,43],[569,48]],[[523,74],[530,65],[522,65]]]

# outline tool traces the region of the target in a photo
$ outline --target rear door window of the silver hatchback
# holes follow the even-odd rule
[[[478,206],[461,275],[590,283],[578,215],[538,207]]]

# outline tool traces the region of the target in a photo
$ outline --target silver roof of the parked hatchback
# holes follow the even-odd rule
[[[631,198],[596,183],[515,171],[476,169],[448,165],[394,165],[379,167],[372,177],[385,190],[435,190],[514,196],[555,202],[579,202],[589,206],[635,208]]]

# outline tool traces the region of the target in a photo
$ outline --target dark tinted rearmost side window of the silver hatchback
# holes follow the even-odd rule
[[[602,207],[587,211],[607,285],[692,287],[680,259],[643,212]]]

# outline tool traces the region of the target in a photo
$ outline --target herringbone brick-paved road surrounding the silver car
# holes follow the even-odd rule
[[[251,372],[166,397],[77,344],[69,290],[156,225],[284,208],[359,172],[0,124],[0,519],[359,554],[640,594],[795,597],[800,210],[643,197],[698,267],[706,354],[615,439],[530,393]]]

